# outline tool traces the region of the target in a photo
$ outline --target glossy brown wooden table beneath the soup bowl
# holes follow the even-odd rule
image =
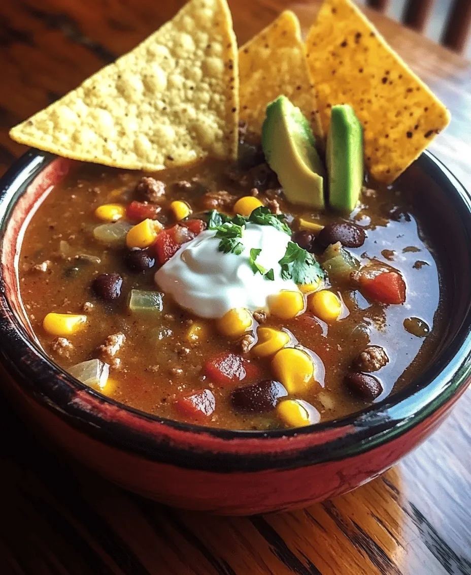
[[[8,129],[171,17],[179,0],[2,0],[0,169]],[[244,42],[284,7],[229,0]],[[471,189],[471,64],[383,17],[380,30],[453,113],[431,149]],[[292,513],[177,511],[127,493],[38,443],[0,401],[1,575],[471,574],[471,389],[440,430],[383,477]]]

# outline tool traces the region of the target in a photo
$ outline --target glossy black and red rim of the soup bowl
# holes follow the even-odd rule
[[[0,179],[0,256],[11,210],[29,183],[57,156],[27,151]],[[471,262],[471,196],[426,151],[416,160],[455,204]],[[166,419],[128,407],[88,388],[57,366],[26,334],[6,297],[0,269],[0,363],[34,400],[114,447],[192,469],[221,471],[301,467],[369,451],[403,435],[464,391],[471,377],[471,304],[457,332],[414,382],[349,416],[288,430],[226,430]],[[13,329],[12,329],[13,328]],[[34,362],[24,362],[25,354]],[[40,389],[32,384],[41,384]],[[75,396],[75,397],[72,397]],[[76,401],[79,399],[79,401]],[[99,412],[95,412],[98,408]],[[137,418],[137,419],[136,419]],[[131,425],[132,424],[132,425]]]

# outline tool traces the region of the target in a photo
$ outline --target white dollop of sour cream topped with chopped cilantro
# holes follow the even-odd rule
[[[278,263],[291,238],[271,225],[248,223],[240,239],[240,255],[219,251],[215,230],[205,230],[157,270],[155,281],[173,300],[199,317],[218,319],[230,309],[268,310],[268,298],[281,290],[299,291],[291,279],[281,278]],[[256,262],[273,268],[273,281],[253,273],[251,248],[260,248]]]

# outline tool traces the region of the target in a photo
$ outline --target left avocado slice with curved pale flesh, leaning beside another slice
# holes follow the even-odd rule
[[[314,134],[301,110],[285,96],[279,96],[267,106],[262,148],[288,201],[316,209],[325,207],[324,169],[315,148]]]

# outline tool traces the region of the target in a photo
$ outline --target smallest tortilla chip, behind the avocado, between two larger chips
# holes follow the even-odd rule
[[[239,50],[240,119],[260,134],[267,104],[284,94],[322,136],[298,18],[285,10]]]

